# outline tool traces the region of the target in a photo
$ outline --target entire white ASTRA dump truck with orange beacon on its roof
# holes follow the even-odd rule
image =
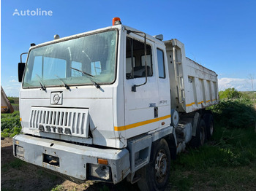
[[[170,160],[214,132],[217,74],[163,41],[124,26],[31,44],[18,63],[20,122],[15,157],[72,182],[165,190]]]

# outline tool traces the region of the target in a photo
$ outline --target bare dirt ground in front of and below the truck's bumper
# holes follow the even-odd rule
[[[88,181],[75,184],[59,178],[13,157],[12,139],[1,139],[1,190],[138,190],[136,184],[128,184],[125,180],[119,184],[106,184]]]

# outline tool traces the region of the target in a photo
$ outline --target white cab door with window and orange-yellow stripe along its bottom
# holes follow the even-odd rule
[[[154,42],[130,33],[126,39],[124,112],[127,138],[159,128],[159,89]],[[145,61],[147,67],[145,67]],[[147,69],[147,82],[146,81]],[[132,90],[134,85],[141,85]]]

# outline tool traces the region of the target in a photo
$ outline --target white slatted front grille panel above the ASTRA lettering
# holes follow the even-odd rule
[[[89,109],[67,109],[32,107],[29,127],[39,130],[39,126],[71,130],[72,136],[88,137]],[[58,133],[58,131],[50,133]]]

